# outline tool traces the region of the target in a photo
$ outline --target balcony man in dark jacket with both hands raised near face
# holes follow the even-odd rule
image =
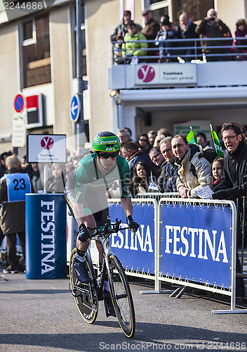
[[[225,23],[217,17],[214,8],[210,8],[206,18],[196,27],[196,33],[201,34],[201,38],[224,38],[230,33],[229,28]],[[207,54],[226,54],[225,48],[208,48],[208,46],[226,46],[228,41],[223,40],[202,40],[203,53],[206,54],[207,61],[225,61],[225,56],[207,56]]]

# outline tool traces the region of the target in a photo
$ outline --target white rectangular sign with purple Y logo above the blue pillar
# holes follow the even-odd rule
[[[28,163],[65,163],[66,134],[27,134]]]

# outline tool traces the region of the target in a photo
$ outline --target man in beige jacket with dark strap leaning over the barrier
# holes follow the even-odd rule
[[[188,144],[182,134],[173,137],[171,146],[178,158],[178,178],[176,187],[182,198],[198,198],[196,189],[212,183],[211,163],[201,157],[202,150],[195,144]]]

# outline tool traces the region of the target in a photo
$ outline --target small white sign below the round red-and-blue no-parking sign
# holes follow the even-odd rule
[[[12,138],[11,145],[13,147],[20,147],[26,145],[27,130],[26,130],[26,114],[15,113],[12,120]]]

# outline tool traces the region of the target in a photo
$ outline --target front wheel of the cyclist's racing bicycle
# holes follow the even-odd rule
[[[119,258],[109,256],[109,289],[119,325],[126,337],[135,334],[135,310],[131,289]]]

